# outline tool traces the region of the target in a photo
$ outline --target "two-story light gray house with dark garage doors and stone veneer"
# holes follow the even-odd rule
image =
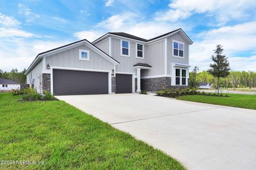
[[[111,94],[186,87],[189,45],[180,28],[150,40],[109,32],[38,54],[27,83],[54,95]]]

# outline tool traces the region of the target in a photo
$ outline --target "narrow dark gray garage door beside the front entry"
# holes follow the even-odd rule
[[[133,77],[131,74],[115,74],[115,83],[117,94],[133,92]]]

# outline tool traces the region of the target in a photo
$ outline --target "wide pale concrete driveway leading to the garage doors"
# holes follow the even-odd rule
[[[56,96],[163,150],[188,169],[256,169],[256,111],[116,94]]]

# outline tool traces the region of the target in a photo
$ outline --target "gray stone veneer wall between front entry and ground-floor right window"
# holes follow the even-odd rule
[[[141,90],[159,91],[163,88],[171,88],[170,77],[141,79]]]

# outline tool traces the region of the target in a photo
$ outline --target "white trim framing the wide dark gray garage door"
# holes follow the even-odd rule
[[[72,67],[55,67],[55,66],[51,67],[51,94],[53,94],[53,69],[77,70],[77,71],[94,71],[94,72],[109,73],[109,94],[112,94],[111,70],[80,69],[80,68],[72,68]]]

